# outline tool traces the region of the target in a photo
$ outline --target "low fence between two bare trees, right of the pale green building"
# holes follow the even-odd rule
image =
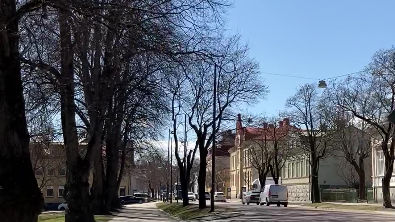
[[[354,188],[321,189],[321,201],[357,203],[357,190]]]

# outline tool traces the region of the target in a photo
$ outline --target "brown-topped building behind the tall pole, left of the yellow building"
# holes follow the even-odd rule
[[[215,149],[215,192],[224,192],[225,196],[228,195],[227,187],[230,186],[230,153],[229,150],[234,146],[235,134],[232,130],[222,133],[222,139],[218,142]],[[211,191],[211,177],[212,177],[212,160],[213,149],[209,148],[207,153],[207,171],[206,171],[206,192]]]

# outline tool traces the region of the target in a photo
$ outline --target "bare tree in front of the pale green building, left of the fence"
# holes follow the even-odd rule
[[[299,87],[296,94],[286,101],[286,106],[290,109],[287,113],[290,121],[299,129],[292,138],[297,149],[303,151],[310,162],[313,198],[315,203],[319,203],[318,168],[320,160],[329,152],[333,132],[329,128],[330,107],[321,100],[315,84]]]

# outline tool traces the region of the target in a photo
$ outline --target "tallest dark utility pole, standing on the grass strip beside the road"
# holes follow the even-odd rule
[[[212,158],[211,160],[211,198],[210,198],[210,211],[214,212],[214,203],[215,203],[215,105],[216,105],[216,94],[217,94],[217,65],[214,64],[214,90],[213,90],[213,147],[212,149]]]

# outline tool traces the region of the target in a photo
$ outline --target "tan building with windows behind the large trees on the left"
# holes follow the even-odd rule
[[[80,143],[81,148],[87,143]],[[30,156],[38,186],[43,192],[44,201],[49,208],[54,208],[64,200],[64,185],[66,184],[66,153],[62,143],[30,143]],[[89,182],[92,184],[93,173]],[[131,194],[131,179],[125,174],[122,178],[118,195]]]

